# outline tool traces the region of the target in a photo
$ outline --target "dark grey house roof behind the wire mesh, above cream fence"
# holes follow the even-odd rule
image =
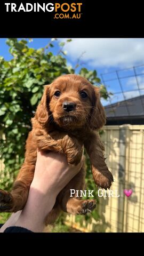
[[[144,95],[105,106],[108,120],[144,119]]]

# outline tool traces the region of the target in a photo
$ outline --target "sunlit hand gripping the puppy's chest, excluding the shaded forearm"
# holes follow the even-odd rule
[[[55,198],[63,187],[79,172],[82,161],[77,166],[69,165],[67,157],[59,153],[37,151],[37,161],[31,188],[43,194],[51,193]]]

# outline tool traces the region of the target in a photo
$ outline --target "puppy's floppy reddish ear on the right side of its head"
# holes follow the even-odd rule
[[[92,130],[99,130],[105,124],[106,124],[106,114],[105,114],[105,109],[103,108],[100,102],[100,89],[99,87],[94,87],[91,118],[90,118],[90,128]]]

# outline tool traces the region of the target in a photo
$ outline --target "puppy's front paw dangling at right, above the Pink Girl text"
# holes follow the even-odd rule
[[[110,189],[112,182],[114,181],[113,175],[109,170],[100,172],[97,169],[92,170],[95,184],[98,187],[104,189]]]

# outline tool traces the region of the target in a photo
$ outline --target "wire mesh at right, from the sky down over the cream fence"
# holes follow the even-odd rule
[[[105,127],[102,140],[107,164],[115,178],[111,189],[117,190],[119,197],[105,198],[105,203],[101,199],[99,213],[102,214],[105,205],[103,215],[104,222],[109,223],[107,231],[142,232],[144,66],[101,74],[101,79],[107,90],[113,93],[108,102],[103,102],[109,105],[105,109],[113,125]],[[130,198],[126,198],[124,189],[133,190]]]

